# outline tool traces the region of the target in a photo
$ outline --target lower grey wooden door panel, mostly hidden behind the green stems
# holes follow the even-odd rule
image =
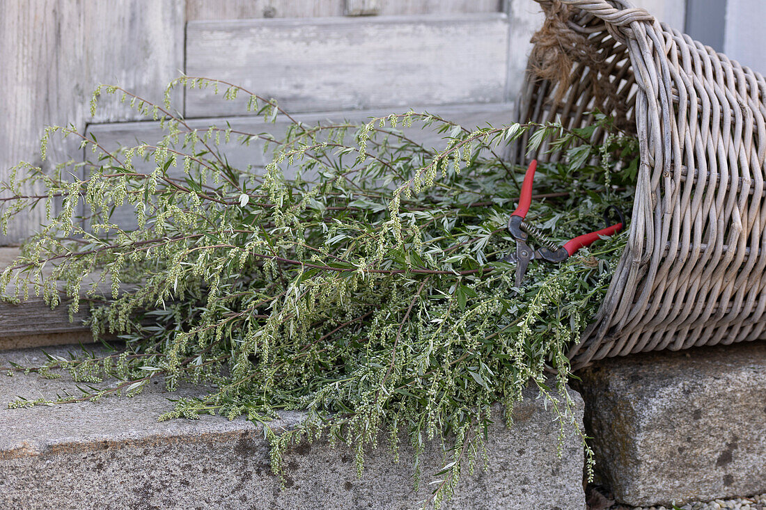
[[[434,108],[414,108],[415,111],[426,110],[430,113],[434,113],[444,117],[445,119],[452,120],[453,122],[460,123],[462,126],[472,129],[476,126],[486,126],[487,123],[493,126],[501,126],[502,124],[509,123],[511,120],[513,105],[511,103],[490,103],[490,104],[467,104],[457,106],[437,106]],[[358,112],[329,112],[329,113],[306,113],[303,115],[296,115],[296,120],[306,125],[316,125],[317,123],[325,123],[326,121],[337,123],[344,119],[350,119],[353,122],[363,122],[372,116],[383,116],[391,113],[393,110],[364,110]],[[192,129],[207,129],[208,126],[219,126],[223,129],[226,128],[227,123],[231,125],[232,129],[250,132],[260,133],[269,132],[274,136],[281,136],[289,126],[289,122],[286,119],[277,118],[277,122],[274,124],[265,123],[260,117],[230,117],[230,118],[218,118],[218,119],[195,119],[189,121]],[[408,129],[404,129],[406,136],[414,139],[416,142],[425,145],[428,148],[444,149],[446,142],[444,142],[444,134],[434,132],[430,129],[420,129],[418,126],[413,126]],[[90,126],[88,133],[92,133],[97,137],[100,144],[106,149],[112,150],[118,148],[120,145],[136,145],[139,142],[152,143],[162,137],[162,129],[159,127],[159,123],[110,123],[103,125]],[[226,155],[226,159],[229,164],[235,168],[247,168],[248,165],[253,166],[255,171],[258,172],[260,168],[264,167],[271,161],[270,153],[264,154],[264,145],[262,142],[251,142],[250,145],[241,145],[237,142],[234,136],[231,136],[231,141],[227,144],[221,139],[221,151]],[[151,162],[133,161],[136,169],[140,172],[152,172],[154,165]],[[180,175],[178,169],[171,169],[169,173],[176,172],[176,175]],[[294,174],[289,174],[294,175]],[[135,225],[135,217],[133,209],[128,206],[123,206],[116,211],[113,221],[119,223],[123,227],[133,227]]]

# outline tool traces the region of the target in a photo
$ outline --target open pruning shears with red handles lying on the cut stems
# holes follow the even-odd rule
[[[529,168],[524,175],[524,182],[522,184],[522,192],[519,197],[519,207],[516,211],[513,211],[511,217],[508,220],[508,230],[516,239],[516,253],[509,253],[502,260],[507,263],[516,263],[516,286],[521,286],[522,280],[524,280],[524,274],[526,273],[529,261],[532,259],[542,259],[548,262],[562,262],[569,257],[577,253],[578,250],[584,247],[591,246],[594,241],[601,238],[601,236],[612,236],[622,230],[625,224],[625,217],[620,209],[610,205],[606,211],[604,211],[604,220],[607,221],[607,225],[610,223],[609,212],[614,211],[620,220],[616,224],[609,227],[596,230],[590,234],[583,234],[578,237],[574,237],[568,240],[563,246],[559,247],[550,240],[542,230],[538,229],[532,224],[529,224],[525,220],[527,211],[529,211],[529,205],[532,204],[532,184],[535,179],[535,170],[537,169],[537,160],[533,159],[529,163]],[[532,250],[527,244],[527,238],[532,236],[543,246],[538,250]]]

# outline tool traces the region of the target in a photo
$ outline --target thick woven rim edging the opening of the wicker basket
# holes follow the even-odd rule
[[[542,6],[546,18],[558,17],[558,21],[586,38],[591,32],[601,30],[591,21],[594,18],[603,21],[603,29],[627,47],[638,88],[633,116],[640,165],[630,235],[604,302],[594,317],[593,329],[568,353],[568,357],[576,356],[579,363],[587,364],[592,358],[604,357],[597,351],[608,347],[601,344],[608,332],[627,332],[625,338],[620,337],[622,343],[613,346],[618,349],[627,342],[627,335],[640,332],[642,321],[647,320],[643,312],[649,308],[655,292],[656,275],[667,273],[673,266],[675,257],[663,257],[659,248],[669,235],[669,229],[663,224],[667,223],[667,211],[673,211],[672,201],[678,193],[671,182],[673,155],[680,149],[678,137],[673,135],[677,127],[672,96],[673,83],[683,83],[683,77],[674,70],[669,59],[669,54],[676,51],[677,41],[668,37],[653,15],[628,0],[536,2]],[[563,6],[570,11],[562,11]],[[630,342],[634,342],[636,335],[631,336]],[[628,347],[633,348],[633,344]]]

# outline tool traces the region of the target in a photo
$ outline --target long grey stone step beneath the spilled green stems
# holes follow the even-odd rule
[[[8,361],[39,363],[42,356],[0,353],[0,366]],[[2,377],[0,401],[71,389],[64,379]],[[558,424],[535,393],[528,391],[516,408],[515,427],[490,427],[489,470],[466,473],[444,508],[584,508],[582,448],[569,436],[557,458]],[[172,406],[165,399],[178,396],[157,384],[130,399],[0,409],[0,508],[416,508],[433,488],[436,443],[424,453],[419,492],[408,448],[401,449],[400,463],[385,446],[369,452],[357,479],[351,450],[319,444],[289,453],[288,486],[281,490],[270,473],[262,427],[210,416],[157,423]],[[579,414],[577,394],[575,400]],[[289,427],[302,417],[283,413],[270,426]]]

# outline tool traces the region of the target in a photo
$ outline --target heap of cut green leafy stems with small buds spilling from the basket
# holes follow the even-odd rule
[[[267,120],[292,119],[228,83],[183,77],[172,86],[225,87],[228,98],[249,96],[248,109]],[[575,132],[518,124],[469,130],[407,112],[361,126],[294,122],[277,138],[231,126],[191,129],[169,103],[152,105],[119,87],[100,87],[93,109],[100,93],[157,116],[167,135],[109,152],[93,136],[51,128],[44,144],[58,132],[93,149],[86,177],[20,165],[5,185],[17,197],[6,203],[4,224],[41,201],[49,211],[54,200],[61,207],[2,275],[4,285],[39,283],[54,305],[53,279],[64,280],[70,296],[93,271],[112,282],[109,296],[94,296],[91,327],[97,337],[121,335],[124,351],[51,358],[42,375],[66,368],[88,383],[83,395],[59,401],[132,396],[164,377],[170,389],[180,381],[214,389],[178,401],[163,418],[218,413],[267,422],[280,410],[308,410],[295,430],[267,428],[278,475],[286,448],[300,440],[348,441],[361,472],[365,447],[380,433],[394,451],[406,438],[416,456],[437,438],[444,469],[425,473],[437,481],[436,505],[461,471],[491,462],[483,445],[491,405],[505,404],[510,425],[530,381],[550,401],[562,438],[582,436],[565,391],[565,353],[597,310],[626,236],[560,265],[533,262],[525,286],[515,288],[514,267],[499,259],[514,247],[506,221],[523,174],[499,153],[532,128],[532,145],[547,139],[565,149],[565,163],[538,170],[535,193],[544,196],[528,219],[566,240],[601,228],[607,202],[630,206],[635,140],[608,119]],[[444,147],[418,145],[401,131],[410,126],[444,133]],[[590,144],[595,129],[612,133],[606,145]],[[218,149],[230,137],[265,143],[272,161],[258,171],[231,168]],[[137,171],[139,159],[153,171]],[[22,195],[28,181],[41,182],[45,195]],[[138,227],[113,222],[120,204],[133,204]],[[46,263],[56,264],[51,278],[41,275]],[[123,281],[142,284],[123,292]],[[117,382],[102,383],[106,377]]]

